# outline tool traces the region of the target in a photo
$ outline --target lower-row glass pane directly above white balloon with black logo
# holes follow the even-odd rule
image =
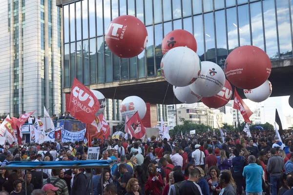
[[[213,13],[205,14],[206,59],[215,62],[215,36]]]

